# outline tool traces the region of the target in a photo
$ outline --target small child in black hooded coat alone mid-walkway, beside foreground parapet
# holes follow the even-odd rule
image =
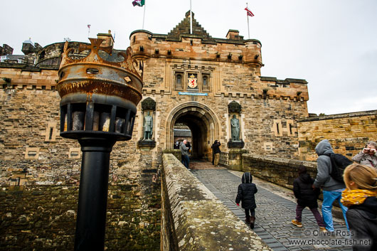
[[[253,176],[251,176],[250,173],[243,173],[241,181],[242,183],[238,186],[235,203],[239,206],[240,202],[242,202],[242,207],[245,209],[245,221],[250,224],[250,228],[253,229],[255,223],[255,208],[257,207],[255,204],[255,193],[257,193],[258,190],[255,183],[252,183]]]

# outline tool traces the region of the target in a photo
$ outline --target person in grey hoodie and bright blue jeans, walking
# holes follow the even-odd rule
[[[331,173],[331,159],[326,154],[334,153],[331,144],[327,139],[320,141],[316,148],[316,153],[318,154],[317,159],[317,177],[313,183],[313,188],[322,188],[324,193],[324,201],[322,203],[322,218],[324,218],[324,224],[326,225],[326,230],[329,232],[334,232],[334,224],[332,221],[332,203],[335,200],[339,201],[341,210],[343,212],[344,220],[346,221],[347,229],[349,225],[346,219],[347,208],[341,204],[341,192],[344,191],[346,186],[344,183],[334,180],[330,176]]]

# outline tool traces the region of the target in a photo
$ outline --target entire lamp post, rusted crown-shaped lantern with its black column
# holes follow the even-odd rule
[[[132,49],[112,55],[102,39],[89,38],[85,58],[70,58],[65,43],[57,90],[60,136],[78,139],[81,164],[75,250],[104,250],[110,152],[116,141],[132,137],[142,78],[134,68]],[[107,58],[105,60],[103,58]]]

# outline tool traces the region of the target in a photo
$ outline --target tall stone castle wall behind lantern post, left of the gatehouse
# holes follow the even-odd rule
[[[55,80],[58,79],[57,70],[41,68],[27,70],[25,68],[5,68],[0,65],[0,77],[0,186],[5,188],[1,197],[0,218],[8,219],[9,213],[12,213],[10,218],[12,222],[17,222],[21,215],[26,215],[26,218],[30,218],[29,221],[32,223],[35,220],[34,216],[36,219],[43,218],[42,227],[38,228],[45,231],[44,228],[49,228],[50,216],[52,219],[55,217],[65,219],[72,216],[71,210],[76,211],[76,205],[71,207],[69,203],[62,202],[59,205],[50,205],[49,202],[55,200],[53,197],[56,197],[55,194],[58,193],[69,193],[68,197],[73,201],[73,193],[77,193],[76,186],[80,180],[80,145],[75,140],[63,139],[59,136],[60,97],[55,91]],[[3,78],[9,78],[11,82],[6,82]],[[129,250],[159,249],[161,199],[159,162],[157,154],[151,154],[152,151],[156,152],[157,150],[139,151],[136,134],[135,130],[130,141],[117,142],[110,156],[110,197],[112,195],[115,198],[120,196],[119,199],[115,201],[109,199],[108,202],[109,212],[115,215],[115,221],[108,222],[110,225],[114,225],[114,229],[116,228],[111,235],[115,235],[120,230],[118,237],[108,241],[110,243],[108,247],[114,247],[112,250],[124,250],[123,247],[120,247],[125,245],[126,241],[133,243],[129,246]],[[53,188],[39,187],[40,185],[51,185]],[[7,190],[9,188],[21,189],[21,192],[9,191]],[[46,191],[47,188],[50,190]],[[34,191],[37,192],[33,193]],[[41,192],[42,196],[34,196]],[[54,195],[51,195],[50,192],[53,192]],[[51,215],[41,215],[38,211],[39,205],[42,208],[45,206],[56,208],[56,211],[51,209]],[[16,206],[21,209],[16,209]],[[23,211],[26,209],[22,208],[26,208],[27,212],[24,213]],[[14,210],[18,213],[13,213]],[[69,213],[67,213],[68,210]],[[48,211],[45,210],[45,213]],[[112,216],[107,216],[111,220]],[[20,224],[23,223],[22,220]],[[26,237],[22,235],[23,233],[20,231],[23,230],[23,227],[20,230],[17,224],[9,225],[4,229],[4,231],[9,231],[6,232],[6,236],[11,236],[4,239],[4,243],[10,247],[18,245],[17,238],[18,240],[27,240],[28,243],[28,238],[31,238],[29,235]],[[33,230],[31,228],[33,225],[27,223],[26,226],[25,231]],[[127,227],[127,230],[123,231],[120,229],[121,226],[122,229]],[[60,224],[54,228],[58,228],[59,233],[64,235],[57,245],[62,247],[60,250],[66,250],[63,247],[68,245],[67,243],[71,240],[70,231],[74,225]],[[31,232],[33,233],[33,231]],[[20,237],[15,233],[20,233]],[[55,232],[52,231],[52,233]],[[31,240],[33,243],[43,242],[45,245],[53,240],[52,233],[48,235],[46,230],[46,237],[43,237],[43,240],[36,240],[38,237],[31,238]],[[45,235],[41,233],[38,236]],[[40,244],[33,245],[36,245],[37,250],[40,249],[38,246]],[[50,246],[46,245],[43,247],[48,250],[47,247],[50,248]],[[153,249],[152,246],[153,248],[156,246],[156,248]],[[6,250],[6,248],[4,249]]]

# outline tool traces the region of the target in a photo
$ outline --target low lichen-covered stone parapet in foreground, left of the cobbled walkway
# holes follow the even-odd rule
[[[173,154],[162,168],[161,250],[270,250]]]

